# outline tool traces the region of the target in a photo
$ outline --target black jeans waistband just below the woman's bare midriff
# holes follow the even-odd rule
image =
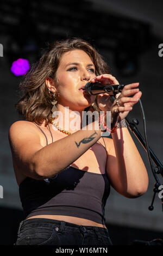
[[[60,227],[60,232],[62,232],[64,229],[79,229],[81,231],[83,231],[85,233],[86,230],[94,230],[96,233],[101,233],[101,234],[108,234],[108,229],[106,228],[102,228],[102,227],[96,227],[96,226],[92,226],[92,225],[78,225],[78,224],[74,224],[71,222],[65,222],[65,221],[59,221],[59,220],[52,220],[52,219],[48,219],[48,218],[32,218],[29,220],[24,220],[21,221],[19,228],[18,228],[18,233],[20,233],[21,228],[23,227],[27,227],[28,225],[35,225],[35,227],[39,226],[40,224],[47,224],[47,225],[54,225],[54,226],[58,226]]]

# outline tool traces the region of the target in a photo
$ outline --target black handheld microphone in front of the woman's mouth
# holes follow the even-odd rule
[[[91,94],[91,95],[97,95],[100,93],[108,93],[110,95],[114,95],[117,93],[120,93],[123,89],[124,85],[123,84],[102,84],[99,82],[95,83],[86,83],[84,90],[86,93]]]

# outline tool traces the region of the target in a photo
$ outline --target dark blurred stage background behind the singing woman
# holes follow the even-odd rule
[[[3,198],[0,198],[0,245],[13,245],[18,224],[23,220],[8,142],[10,125],[21,119],[14,104],[19,98],[18,84],[22,77],[11,73],[12,62],[26,58],[32,64],[39,59],[47,42],[69,36],[90,41],[104,56],[111,74],[120,83],[140,82],[149,147],[163,162],[163,57],[159,56],[159,45],[163,43],[162,7],[162,1],[136,0],[1,1],[0,185],[3,186]],[[129,118],[139,120],[137,127],[144,137],[139,104],[134,106]],[[155,184],[148,157],[133,133],[131,136],[146,164],[149,187],[142,197],[136,199],[124,198],[111,188],[105,217],[115,245],[131,245],[134,240],[163,239],[162,206],[158,194],[154,210],[148,210]],[[158,175],[158,178],[162,184],[162,176]]]

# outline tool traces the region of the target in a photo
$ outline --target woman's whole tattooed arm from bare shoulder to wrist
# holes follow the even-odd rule
[[[55,176],[98,141],[101,130],[94,125],[92,130],[79,130],[42,147],[31,123],[15,122],[9,129],[9,142],[17,168],[22,174],[38,180]]]

